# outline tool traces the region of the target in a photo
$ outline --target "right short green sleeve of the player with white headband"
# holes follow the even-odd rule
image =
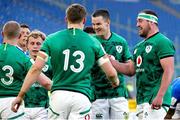
[[[159,56],[159,59],[174,56],[175,48],[170,40],[161,38],[158,42],[157,55]]]

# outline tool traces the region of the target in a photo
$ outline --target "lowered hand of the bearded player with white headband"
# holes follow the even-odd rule
[[[162,102],[163,102],[163,97],[157,95],[151,104],[151,108],[155,110],[161,109]]]

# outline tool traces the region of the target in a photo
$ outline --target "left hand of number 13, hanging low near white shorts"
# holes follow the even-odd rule
[[[23,101],[23,99],[21,97],[16,97],[16,99],[12,102],[11,110],[13,112],[17,112],[22,101]]]

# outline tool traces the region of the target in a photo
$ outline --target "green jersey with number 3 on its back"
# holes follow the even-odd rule
[[[30,59],[16,46],[0,45],[1,98],[18,95],[30,66]]]

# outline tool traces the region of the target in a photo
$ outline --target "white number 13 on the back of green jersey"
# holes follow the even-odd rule
[[[65,55],[65,59],[64,59],[64,71],[67,71],[68,70],[68,67],[69,67],[69,57],[70,56],[70,50],[69,49],[66,49],[63,51],[63,54]],[[74,65],[70,65],[70,69],[73,71],[73,72],[76,72],[76,73],[79,73],[83,70],[84,68],[84,59],[85,59],[85,55],[82,51],[75,51],[73,52],[72,56],[74,58],[76,58],[76,56],[80,56],[80,58],[76,59],[76,63],[79,64],[79,67],[78,68],[75,68]]]

